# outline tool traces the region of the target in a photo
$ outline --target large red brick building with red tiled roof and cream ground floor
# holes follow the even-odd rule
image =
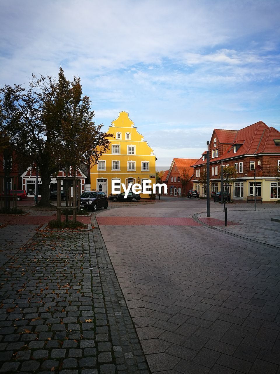
[[[210,190],[221,190],[221,167],[234,166],[236,180],[223,186],[232,199],[261,196],[263,201],[280,199],[280,132],[259,121],[240,130],[214,129],[209,144]],[[193,188],[202,196],[199,176],[206,169],[206,151],[193,165]],[[255,184],[256,178],[256,184]]]

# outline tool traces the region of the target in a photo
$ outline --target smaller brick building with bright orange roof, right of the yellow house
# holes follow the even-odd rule
[[[167,184],[168,196],[186,196],[187,191],[193,188],[193,168],[191,165],[196,161],[198,160],[173,159],[169,170],[165,171],[162,177],[162,182]],[[190,181],[184,185],[186,175],[189,175]]]

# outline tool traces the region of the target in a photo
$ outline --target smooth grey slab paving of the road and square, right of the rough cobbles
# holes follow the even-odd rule
[[[99,212],[97,219],[193,217],[205,205],[174,199]],[[255,214],[246,205],[228,205],[228,219],[240,225],[226,231],[100,220],[152,373],[280,373],[280,233],[269,213],[279,214],[279,207],[262,204]],[[211,202],[211,217],[223,220],[222,210]],[[249,238],[240,237],[242,224],[251,222]],[[270,227],[274,241],[266,245],[260,240]]]

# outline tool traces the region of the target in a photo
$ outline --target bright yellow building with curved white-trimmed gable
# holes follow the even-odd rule
[[[110,150],[102,154],[98,163],[91,167],[91,190],[104,191],[107,196],[112,193],[112,181],[120,191],[121,183],[127,188],[129,183],[151,180],[155,183],[156,156],[153,149],[144,141],[128,113],[122,111],[112,121],[107,134],[113,134]],[[123,191],[123,189],[121,190]],[[147,194],[140,194],[148,198]]]

